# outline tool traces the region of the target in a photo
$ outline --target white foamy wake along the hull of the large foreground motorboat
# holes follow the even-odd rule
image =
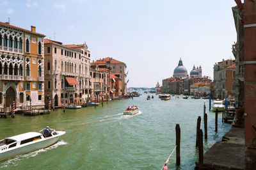
[[[47,148],[32,151],[30,153],[26,153],[26,154],[23,154],[23,155],[17,155],[16,157],[8,159],[5,162],[3,162],[3,166],[1,166],[0,169],[4,168],[4,167],[8,167],[10,165],[17,165],[20,160],[24,160],[24,159],[27,159],[27,158],[30,158],[30,157],[35,157],[36,155],[38,155],[38,153],[49,151],[49,150],[58,148],[58,146],[65,145],[65,144],[67,144],[67,143],[65,141],[61,140],[61,141],[58,141],[58,143],[52,144],[51,146],[49,146]]]

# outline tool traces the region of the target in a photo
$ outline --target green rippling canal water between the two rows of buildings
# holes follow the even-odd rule
[[[0,169],[161,169],[175,147],[175,124],[181,129],[181,165],[178,169],[194,169],[198,151],[195,148],[196,120],[203,118],[203,99],[161,101],[156,95],[127,100],[115,100],[78,110],[61,109],[51,114],[15,118],[0,118],[0,139],[25,132],[37,132],[47,125],[65,128],[66,134],[58,143],[42,150],[19,155],[0,162]],[[124,116],[129,105],[138,105],[141,112]],[[208,113],[208,150],[230,129],[218,115],[218,133],[214,132],[214,112]],[[202,121],[203,122],[203,121]],[[201,128],[203,127],[203,123]],[[204,131],[204,130],[203,130]],[[168,163],[176,169],[175,153]]]

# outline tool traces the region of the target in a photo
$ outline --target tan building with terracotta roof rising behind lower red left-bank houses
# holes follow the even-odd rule
[[[93,61],[93,65],[106,65],[111,68],[111,72],[120,73],[120,79],[122,79],[122,95],[126,93],[127,90],[127,72],[125,63],[118,61],[113,58],[102,58],[97,61]]]

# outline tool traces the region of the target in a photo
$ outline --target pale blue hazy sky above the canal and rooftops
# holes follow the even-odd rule
[[[234,1],[198,0],[0,0],[0,20],[64,44],[86,42],[92,60],[113,57],[127,64],[128,87],[153,87],[173,75],[182,58],[190,72],[233,58]]]

